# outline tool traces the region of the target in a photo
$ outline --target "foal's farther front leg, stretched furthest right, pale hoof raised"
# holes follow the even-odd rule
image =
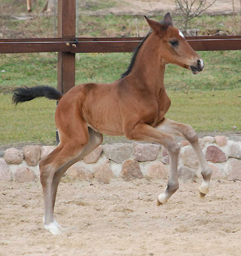
[[[201,175],[203,176],[203,182],[199,188],[199,195],[203,198],[206,193],[208,193],[210,179],[212,176],[212,170],[210,166],[206,162],[205,156],[201,150],[201,147],[198,143],[198,136],[194,129],[190,125],[180,124],[178,122],[164,119],[164,121],[157,127],[159,131],[167,132],[169,134],[177,134],[186,138],[194,151],[196,152],[196,156],[198,157],[199,164],[201,166]]]

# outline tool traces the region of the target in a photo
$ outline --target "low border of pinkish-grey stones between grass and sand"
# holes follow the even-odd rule
[[[206,136],[199,144],[213,170],[212,178],[241,179],[241,141],[226,136]],[[178,172],[183,181],[200,177],[198,159],[189,142],[179,143]],[[8,148],[0,157],[0,180],[29,182],[39,179],[38,163],[48,156],[54,146],[25,146],[22,150]],[[97,179],[109,183],[111,179],[126,181],[141,179],[167,179],[169,154],[166,148],[150,143],[115,143],[100,145],[82,161],[66,172],[66,177],[77,180]]]

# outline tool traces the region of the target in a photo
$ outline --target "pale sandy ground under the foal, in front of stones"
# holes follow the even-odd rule
[[[42,225],[40,182],[1,182],[0,255],[237,255],[241,253],[240,181],[180,183],[166,205],[157,194],[166,180],[61,182],[56,218],[66,228],[52,236]]]

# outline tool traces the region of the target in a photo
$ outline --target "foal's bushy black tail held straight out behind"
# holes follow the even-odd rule
[[[21,87],[13,91],[12,100],[13,103],[17,105],[19,102],[33,100],[37,97],[45,97],[51,100],[60,100],[62,96],[62,93],[49,86],[35,86],[31,88]]]

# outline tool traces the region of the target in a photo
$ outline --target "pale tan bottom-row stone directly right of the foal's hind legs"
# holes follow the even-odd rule
[[[88,168],[79,163],[76,163],[68,168],[67,175],[70,177],[70,179],[77,180],[91,180],[94,177],[93,173],[91,173]]]

